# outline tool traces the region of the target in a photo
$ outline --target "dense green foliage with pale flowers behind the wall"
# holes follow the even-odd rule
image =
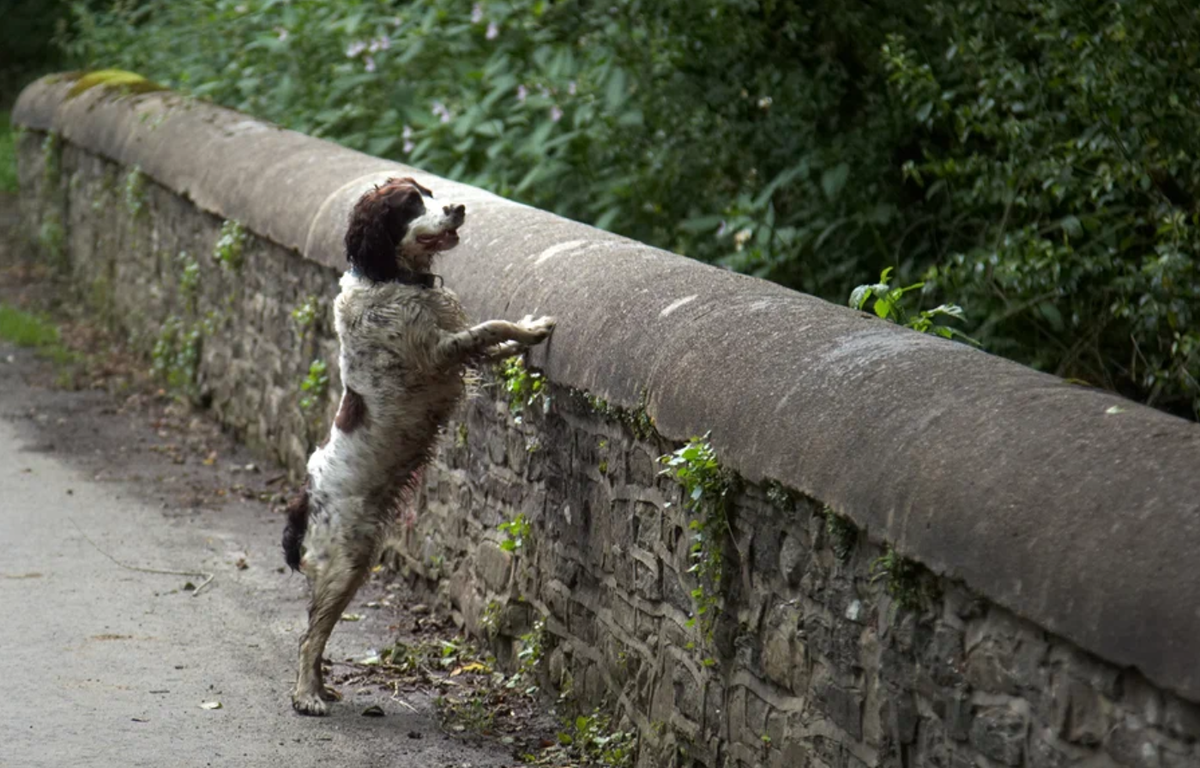
[[[1198,19],[1190,0],[143,0],[77,6],[68,49],[839,302],[895,266],[991,350],[1192,414]]]

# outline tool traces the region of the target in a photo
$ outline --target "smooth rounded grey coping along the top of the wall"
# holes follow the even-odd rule
[[[710,432],[748,480],[1200,701],[1200,426],[228,109],[68,88],[31,84],[13,121],[334,269],[372,184],[464,203],[438,269],[476,318],[557,316],[551,380],[644,397],[665,437]]]

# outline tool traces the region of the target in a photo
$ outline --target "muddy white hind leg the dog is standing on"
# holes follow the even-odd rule
[[[330,632],[370,572],[370,556],[336,552],[313,580],[308,629],[300,638],[300,670],[292,692],[292,707],[300,714],[324,715],[329,712],[326,702],[338,698],[334,689],[325,686],[320,658]]]

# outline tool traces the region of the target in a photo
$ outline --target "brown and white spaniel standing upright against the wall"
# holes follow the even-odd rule
[[[388,179],[350,212],[334,305],[342,400],[329,439],[308,458],[289,504],[287,564],[307,576],[308,628],[300,638],[293,708],[324,715],[341,696],[324,683],[329,635],[366,581],[380,541],[464,394],[472,362],[545,341],[554,318],[469,325],[430,270],[458,245],[463,205],[438,205],[410,178]]]

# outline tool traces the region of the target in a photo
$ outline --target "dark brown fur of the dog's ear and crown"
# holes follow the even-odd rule
[[[398,274],[396,246],[409,222],[425,212],[418,188],[406,179],[388,179],[359,198],[350,211],[346,258],[367,280],[385,282]]]

